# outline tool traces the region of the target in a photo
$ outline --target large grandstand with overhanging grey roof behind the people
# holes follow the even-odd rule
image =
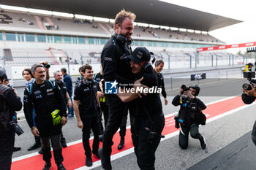
[[[88,7],[84,6],[83,3],[85,2],[80,2],[80,4],[75,2],[73,4],[75,12],[70,11],[69,1],[58,0],[54,4],[48,0],[45,1],[45,4],[52,7],[51,9],[72,13],[74,14],[72,17],[30,12],[29,9],[27,11],[17,11],[2,8],[3,5],[1,5],[0,57],[3,63],[9,66],[29,66],[32,63],[42,61],[42,59],[48,60],[53,65],[67,64],[67,61],[69,64],[99,63],[102,47],[110,35],[113,34],[113,23],[110,22],[112,20],[99,21],[93,17],[80,19],[75,14],[78,12],[80,15],[114,18],[116,12],[113,12],[113,10],[119,11],[124,6],[121,1],[114,1],[113,6],[108,4],[108,7],[103,8],[99,4],[105,2],[100,1],[97,4],[97,1],[99,2],[99,0],[86,1]],[[206,12],[200,12],[200,18],[194,19],[191,17],[198,15],[197,10],[167,4],[162,1],[153,2],[155,7],[151,7],[151,10],[153,10],[152,13],[157,10],[157,15],[143,13],[145,9],[137,8],[137,6],[140,7],[140,5],[146,3],[146,0],[132,0],[129,7],[126,7],[138,16],[135,20],[135,29],[132,36],[134,40],[132,48],[145,46],[156,54],[156,58],[176,63],[174,65],[169,63],[169,66],[165,66],[165,69],[176,68],[177,62],[181,60],[184,62],[179,65],[186,67],[190,64],[191,67],[192,63],[189,63],[189,61],[194,61],[197,58],[195,51],[198,47],[225,45],[222,40],[209,35],[208,31],[241,22]],[[2,1],[1,3],[49,9],[48,6],[41,3],[35,4],[33,1],[26,1],[26,3],[23,3],[23,1]],[[63,8],[55,6],[58,3],[63,4]],[[83,10],[80,10],[81,5],[84,7]],[[110,9],[110,6],[112,7],[111,12],[102,13]],[[159,7],[163,10],[159,11]],[[176,10],[164,10],[166,7],[168,9],[178,8],[184,13],[180,12],[180,15],[177,15],[173,13]],[[91,8],[95,10],[92,11]],[[195,22],[200,24],[195,24]],[[214,55],[215,58],[229,58],[231,56],[227,53],[225,54],[227,57],[222,57],[217,53],[208,55]],[[239,58],[235,55],[233,57]],[[209,63],[212,59],[208,57],[208,61],[205,60],[201,63]],[[241,61],[238,60],[235,64]],[[200,66],[200,64],[198,63],[197,66]]]

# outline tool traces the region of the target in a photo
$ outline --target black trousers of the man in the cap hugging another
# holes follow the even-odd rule
[[[161,133],[165,126],[165,117],[161,115],[153,120],[131,117],[132,142],[140,169],[154,170],[155,152],[161,140]],[[151,131],[149,131],[150,129]],[[154,133],[152,133],[154,132]]]

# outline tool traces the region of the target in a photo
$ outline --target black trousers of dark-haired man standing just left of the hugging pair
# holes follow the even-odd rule
[[[83,122],[83,149],[86,157],[91,157],[91,147],[89,143],[91,129],[94,133],[94,142],[92,144],[92,150],[95,152],[99,149],[99,123],[100,117],[81,117]]]

